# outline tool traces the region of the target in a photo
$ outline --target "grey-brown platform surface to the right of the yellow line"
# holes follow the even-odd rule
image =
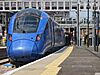
[[[86,48],[76,47],[59,67],[58,75],[100,75],[100,58]]]

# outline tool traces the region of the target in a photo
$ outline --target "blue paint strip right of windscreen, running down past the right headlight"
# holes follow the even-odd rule
[[[42,38],[41,38],[40,41],[36,42],[39,54],[41,54],[43,52],[43,45],[44,45],[44,40],[45,40],[43,38],[43,33],[44,33],[44,30],[45,30],[47,21],[48,21],[48,15],[45,12],[42,12],[41,20],[40,20],[39,27],[38,27],[38,30],[37,30],[37,34],[42,34]]]

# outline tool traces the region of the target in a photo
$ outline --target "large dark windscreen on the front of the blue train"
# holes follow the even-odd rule
[[[40,18],[34,14],[23,14],[16,18],[14,33],[34,33],[37,31]]]

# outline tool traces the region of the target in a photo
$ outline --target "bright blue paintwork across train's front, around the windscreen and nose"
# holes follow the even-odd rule
[[[39,34],[43,34],[48,21],[48,15],[44,12],[41,13],[41,19],[36,33],[13,33],[15,19],[16,14],[11,18],[8,27],[8,34],[12,35],[12,41],[7,39],[8,56],[11,59],[17,59],[19,61],[30,61],[30,59],[38,58],[43,52],[42,47],[44,39],[42,36],[40,41],[36,41],[36,37]]]

